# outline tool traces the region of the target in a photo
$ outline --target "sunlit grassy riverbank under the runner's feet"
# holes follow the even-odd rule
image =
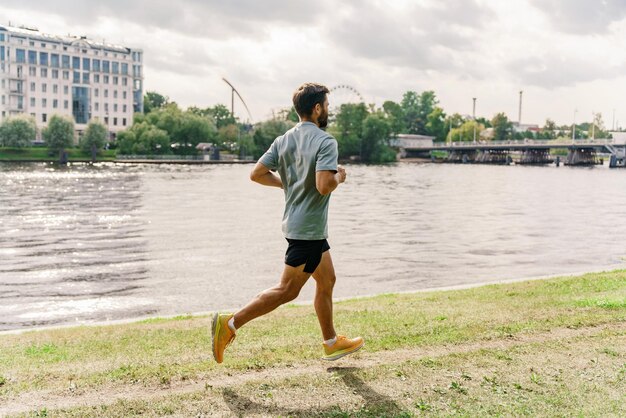
[[[366,347],[324,363],[311,306],[0,336],[0,415],[624,416],[626,270],[336,305]],[[34,411],[34,412],[33,412]]]

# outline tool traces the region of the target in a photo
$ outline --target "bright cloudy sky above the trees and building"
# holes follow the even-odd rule
[[[523,90],[523,123],[626,126],[626,0],[2,0],[9,21],[143,48],[145,88],[183,107],[229,105],[226,77],[255,121],[317,81],[512,120]]]

